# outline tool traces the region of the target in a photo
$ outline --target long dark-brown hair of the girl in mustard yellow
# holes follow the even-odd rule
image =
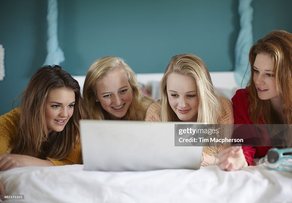
[[[74,91],[74,111],[61,132],[49,133],[45,120],[45,103],[49,92],[56,88]],[[84,117],[84,112],[78,82],[60,66],[44,66],[36,71],[17,98],[21,96],[18,140],[11,153],[41,159],[65,158],[80,142],[78,122]]]

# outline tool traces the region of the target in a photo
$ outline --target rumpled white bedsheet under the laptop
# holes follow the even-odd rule
[[[20,167],[0,173],[8,202],[292,202],[292,174],[247,167],[83,171],[83,165]]]

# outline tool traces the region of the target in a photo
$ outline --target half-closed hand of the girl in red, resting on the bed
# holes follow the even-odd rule
[[[241,146],[223,149],[218,153],[217,157],[220,159],[220,169],[225,171],[237,171],[248,166]]]

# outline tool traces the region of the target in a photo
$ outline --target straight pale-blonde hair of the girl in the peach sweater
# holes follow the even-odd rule
[[[161,120],[164,122],[181,121],[168,101],[166,84],[167,78],[171,73],[194,78],[199,99],[197,122],[218,124],[223,108],[218,95],[215,93],[209,71],[206,64],[199,57],[189,53],[175,55],[166,67],[164,76],[161,79]],[[203,151],[209,155],[217,153],[214,146],[206,146]]]

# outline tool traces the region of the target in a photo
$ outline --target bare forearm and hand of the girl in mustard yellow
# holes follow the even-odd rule
[[[1,154],[0,155],[0,171],[6,171],[15,167],[23,166],[54,166],[49,160],[19,155],[19,154]]]

